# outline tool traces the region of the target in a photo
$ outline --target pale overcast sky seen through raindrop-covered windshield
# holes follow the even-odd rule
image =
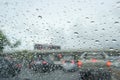
[[[0,30],[21,41],[12,50],[120,49],[119,0],[0,0],[0,11]]]

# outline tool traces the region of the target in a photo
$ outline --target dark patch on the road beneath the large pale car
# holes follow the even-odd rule
[[[80,70],[80,77],[82,80],[116,80],[111,71],[106,69],[84,69]]]

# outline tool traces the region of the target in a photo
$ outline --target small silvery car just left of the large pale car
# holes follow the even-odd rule
[[[64,72],[77,71],[77,64],[74,60],[65,60],[62,62],[62,70]]]

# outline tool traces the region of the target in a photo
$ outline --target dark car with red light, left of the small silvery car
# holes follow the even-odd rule
[[[29,63],[29,69],[39,72],[50,72],[55,70],[55,65],[48,57],[36,58]]]

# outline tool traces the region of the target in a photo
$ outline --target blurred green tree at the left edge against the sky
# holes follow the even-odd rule
[[[20,41],[16,41],[15,44],[11,44],[6,35],[0,30],[0,52],[3,52],[5,46],[10,46],[11,48],[18,47]]]

